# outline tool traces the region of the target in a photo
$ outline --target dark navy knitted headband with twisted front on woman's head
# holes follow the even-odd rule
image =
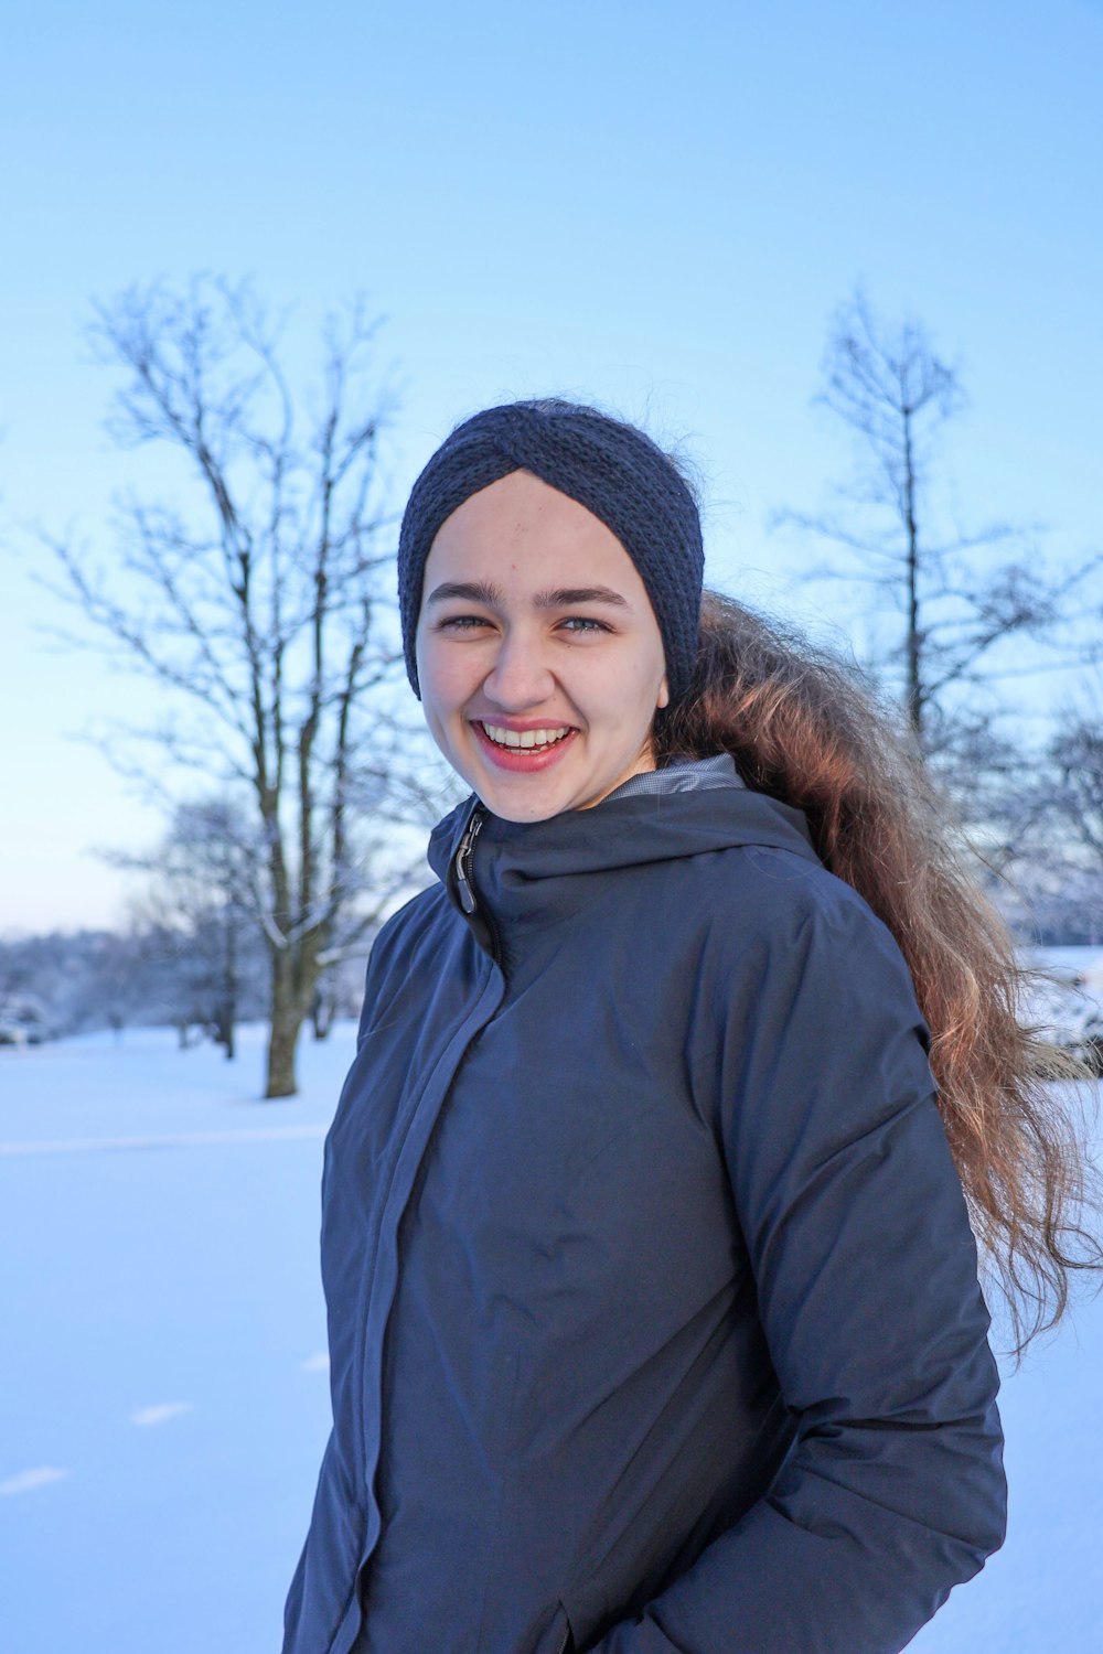
[[[650,437],[597,409],[551,397],[475,414],[451,432],[413,485],[399,536],[402,642],[413,650],[425,559],[445,518],[511,471],[531,471],[612,529],[637,566],[658,620],[671,705],[698,648],[704,552],[693,495]]]

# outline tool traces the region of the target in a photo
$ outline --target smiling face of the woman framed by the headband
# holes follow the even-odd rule
[[[643,581],[612,529],[529,471],[442,524],[417,675],[437,746],[504,820],[589,809],[655,767],[670,696]]]

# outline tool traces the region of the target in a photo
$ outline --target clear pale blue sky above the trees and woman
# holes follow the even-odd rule
[[[20,8],[0,68],[0,933],[117,918],[88,847],[159,830],[74,739],[132,681],[35,630],[58,614],[26,528],[109,559],[111,501],[149,475],[103,432],[93,298],[251,273],[306,329],[362,289],[403,385],[395,504],[463,414],[592,395],[698,457],[709,579],[843,625],[766,519],[845,475],[810,399],[857,278],[961,366],[962,524],[1043,523],[1057,564],[1101,543],[1101,86],[1093,0]]]

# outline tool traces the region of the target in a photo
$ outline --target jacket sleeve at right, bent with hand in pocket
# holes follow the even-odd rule
[[[797,1434],[600,1654],[898,1654],[1004,1540],[989,1317],[903,954],[830,880],[749,963],[718,1128]]]

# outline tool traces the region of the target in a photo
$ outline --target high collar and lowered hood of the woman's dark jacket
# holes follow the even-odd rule
[[[610,796],[589,810],[539,822],[503,820],[471,794],[438,822],[428,842],[428,865],[458,908],[455,858],[476,814],[478,900],[501,916],[574,906],[585,900],[594,873],[736,845],[769,845],[819,860],[804,810],[742,786]]]

